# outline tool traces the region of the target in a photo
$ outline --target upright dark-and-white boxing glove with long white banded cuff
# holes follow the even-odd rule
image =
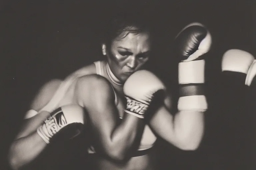
[[[187,25],[176,36],[175,52],[181,61],[178,66],[179,111],[207,110],[204,95],[205,61],[202,55],[210,50],[211,42],[210,32],[200,23]]]

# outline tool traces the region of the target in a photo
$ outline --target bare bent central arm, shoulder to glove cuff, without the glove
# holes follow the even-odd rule
[[[80,78],[76,92],[79,103],[88,112],[96,152],[117,161],[126,159],[142,135],[143,119],[131,114],[119,119],[113,88],[104,77]]]

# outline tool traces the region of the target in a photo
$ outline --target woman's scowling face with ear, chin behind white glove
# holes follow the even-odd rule
[[[107,48],[105,53],[103,49],[103,54],[107,56],[113,74],[125,82],[132,73],[139,70],[148,61],[150,45],[149,33],[134,34],[125,31],[112,41],[110,48]]]

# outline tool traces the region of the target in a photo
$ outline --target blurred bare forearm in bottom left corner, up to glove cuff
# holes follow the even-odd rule
[[[33,161],[46,147],[47,143],[36,131],[15,140],[9,149],[8,160],[13,169],[19,169]]]

